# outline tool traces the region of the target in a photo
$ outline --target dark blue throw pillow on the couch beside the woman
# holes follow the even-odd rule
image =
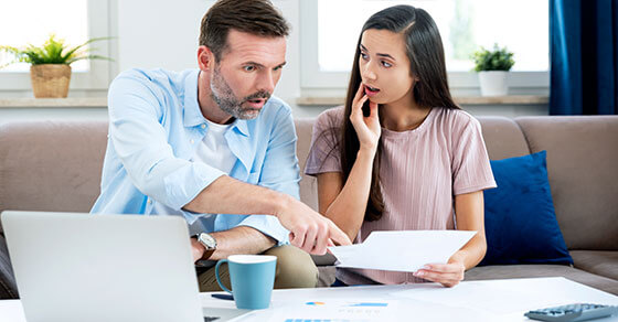
[[[573,264],[556,221],[546,152],[491,161],[484,191],[487,255],[479,265]]]

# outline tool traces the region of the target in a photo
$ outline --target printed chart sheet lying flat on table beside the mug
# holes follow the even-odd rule
[[[289,308],[275,321],[281,322],[373,322],[387,321],[395,301],[322,300]]]

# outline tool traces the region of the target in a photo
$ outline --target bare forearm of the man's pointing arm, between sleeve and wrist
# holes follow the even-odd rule
[[[183,208],[205,214],[276,215],[277,208],[288,197],[280,192],[223,175]]]

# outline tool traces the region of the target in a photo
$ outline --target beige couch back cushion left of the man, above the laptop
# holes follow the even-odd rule
[[[0,126],[0,212],[88,212],[106,144],[107,121]]]

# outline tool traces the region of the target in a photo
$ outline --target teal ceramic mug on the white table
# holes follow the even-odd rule
[[[228,290],[219,277],[219,268],[227,262],[232,290]],[[270,296],[275,286],[277,257],[269,255],[232,255],[220,260],[215,266],[216,282],[226,292],[234,296],[238,309],[266,309],[270,305]]]

